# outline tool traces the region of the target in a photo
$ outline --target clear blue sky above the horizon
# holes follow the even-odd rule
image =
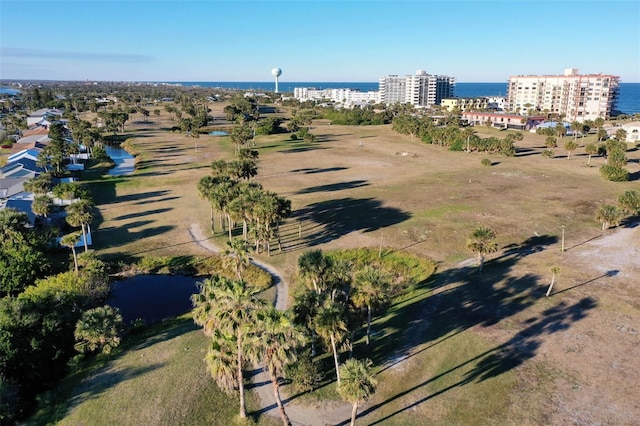
[[[640,2],[0,0],[0,78],[461,82],[619,75],[640,82]]]

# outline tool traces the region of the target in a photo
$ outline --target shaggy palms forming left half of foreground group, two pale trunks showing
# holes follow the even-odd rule
[[[283,423],[290,425],[280,398],[279,378],[305,342],[290,314],[267,306],[243,281],[217,275],[200,283],[200,292],[193,295],[192,302],[194,321],[211,339],[207,368],[220,389],[239,392],[240,417],[247,417],[244,370],[261,362],[269,372]]]

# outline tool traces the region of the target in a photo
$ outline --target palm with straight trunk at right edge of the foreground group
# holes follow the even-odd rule
[[[373,309],[389,299],[389,281],[386,274],[370,266],[355,274],[355,288],[351,300],[357,307],[367,308],[367,345],[371,343]]]

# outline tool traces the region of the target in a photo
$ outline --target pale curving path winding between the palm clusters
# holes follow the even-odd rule
[[[189,234],[193,241],[205,250],[212,253],[220,253],[221,250],[216,246],[210,237],[205,236],[202,228],[197,223],[189,226]],[[287,309],[287,301],[289,299],[289,284],[284,277],[273,266],[251,258],[251,263],[269,272],[273,277],[276,285],[276,301],[275,307],[279,310]],[[260,414],[267,414],[272,417],[280,418],[280,411],[273,395],[273,387],[269,374],[262,368],[256,368],[252,372],[253,387],[260,398]],[[351,404],[346,403],[322,403],[316,406],[301,406],[292,403],[288,398],[283,396],[287,415],[291,423],[296,426],[326,426],[346,424],[351,420]]]

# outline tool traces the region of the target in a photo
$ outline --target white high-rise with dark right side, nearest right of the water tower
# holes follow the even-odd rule
[[[388,75],[380,78],[380,102],[428,108],[452,98],[455,84],[455,77],[431,75],[422,70],[415,75]]]

